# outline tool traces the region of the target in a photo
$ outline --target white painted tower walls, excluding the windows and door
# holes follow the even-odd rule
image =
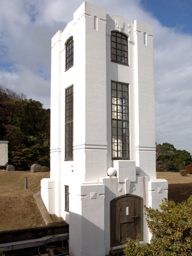
[[[96,23],[95,23],[96,22]],[[129,65],[110,60],[111,30],[128,36]],[[74,39],[74,66],[65,71],[65,43]],[[111,80],[129,84],[130,160],[111,159]],[[65,89],[74,86],[74,159],[65,161]],[[117,175],[109,177],[114,167]],[[65,211],[69,186],[69,212]],[[110,250],[110,201],[125,194],[159,207],[167,181],[156,180],[153,28],[106,14],[84,2],[52,38],[51,178],[41,182],[50,213],[69,223],[70,254]],[[149,242],[143,211],[143,242]],[[97,241],[97,243],[95,243]]]

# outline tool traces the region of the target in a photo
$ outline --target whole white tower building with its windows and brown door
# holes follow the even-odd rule
[[[52,38],[50,214],[69,223],[70,254],[105,256],[140,233],[158,208],[153,27],[84,2]]]

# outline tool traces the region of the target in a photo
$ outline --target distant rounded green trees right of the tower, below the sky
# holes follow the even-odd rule
[[[191,162],[191,155],[186,150],[178,150],[167,142],[156,145],[156,166],[164,171],[182,170]]]

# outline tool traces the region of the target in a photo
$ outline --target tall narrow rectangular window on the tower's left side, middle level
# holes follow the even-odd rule
[[[65,95],[65,160],[73,161],[73,86]]]

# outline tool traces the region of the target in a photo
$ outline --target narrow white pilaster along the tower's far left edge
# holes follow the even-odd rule
[[[61,215],[61,181],[60,181],[60,161],[61,161],[61,134],[60,134],[60,67],[61,67],[61,33],[59,30],[54,35],[51,42],[51,140],[50,140],[50,165],[51,179],[55,181],[55,214]]]

